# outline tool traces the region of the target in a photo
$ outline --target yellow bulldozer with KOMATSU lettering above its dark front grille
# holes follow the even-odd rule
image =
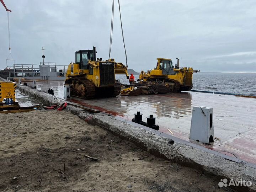
[[[70,95],[80,98],[111,97],[119,95],[120,83],[116,74],[126,74],[127,66],[114,59],[96,58],[96,48],[79,50],[75,53],[75,63],[70,63],[65,84],[70,85]]]

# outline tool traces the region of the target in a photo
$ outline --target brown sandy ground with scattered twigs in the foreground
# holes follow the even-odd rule
[[[214,176],[156,158],[69,111],[0,120],[0,191],[227,191]]]

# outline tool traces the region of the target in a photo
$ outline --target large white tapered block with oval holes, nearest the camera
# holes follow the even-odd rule
[[[190,139],[202,143],[214,142],[213,108],[194,106]]]

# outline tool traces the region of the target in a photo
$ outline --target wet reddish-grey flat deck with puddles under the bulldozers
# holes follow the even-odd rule
[[[63,85],[64,81],[44,81],[38,82],[37,89],[47,91],[50,88],[54,90],[54,95],[63,97]],[[73,97],[71,101],[129,121],[137,111],[143,113],[143,121],[146,121],[149,114],[153,114],[157,117],[156,124],[160,126],[160,132],[172,135],[170,129],[173,136],[186,141],[190,141],[192,107],[212,107],[214,135],[218,139],[214,139],[212,145],[203,146],[256,164],[256,105],[252,105],[255,98],[182,92],[94,100]]]

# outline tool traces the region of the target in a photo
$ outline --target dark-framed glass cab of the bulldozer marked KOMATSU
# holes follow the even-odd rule
[[[96,60],[96,51],[95,47],[93,50],[78,50],[76,51],[76,61],[75,63],[79,64],[80,69],[89,69],[88,60],[95,61]]]

